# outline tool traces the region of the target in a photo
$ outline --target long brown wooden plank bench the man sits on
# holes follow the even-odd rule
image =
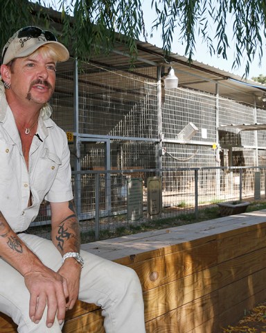
[[[139,275],[147,333],[221,332],[266,300],[266,211],[83,244]],[[101,310],[78,302],[64,333],[104,333]],[[0,332],[13,333],[0,317]]]

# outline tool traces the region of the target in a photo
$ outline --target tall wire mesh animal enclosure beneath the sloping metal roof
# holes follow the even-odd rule
[[[197,217],[220,201],[264,198],[265,130],[231,126],[266,123],[264,109],[242,103],[244,93],[234,101],[238,92],[230,87],[225,96],[211,94],[205,80],[190,89],[194,77],[164,89],[160,66],[139,60],[130,68],[117,57],[58,65],[51,101],[53,119],[73,137],[73,192],[84,241],[150,220]],[[31,228],[50,237],[50,219],[43,203]]]

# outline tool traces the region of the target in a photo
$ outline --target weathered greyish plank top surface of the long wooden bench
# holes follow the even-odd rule
[[[148,232],[148,234],[142,232],[126,237],[108,239],[107,241],[96,241],[91,244],[83,244],[82,249],[106,259],[119,259],[121,264],[130,264],[132,258],[134,258],[134,262],[148,259],[151,252],[152,257],[161,255],[162,248],[165,251],[164,253],[168,253],[168,251],[177,250],[178,247],[188,248],[192,241],[202,242],[205,237],[206,241],[209,241],[216,237],[222,239],[226,237],[227,232],[231,232],[233,236],[233,234],[239,233],[239,229],[242,229],[242,232],[248,232],[253,228],[258,228],[256,226],[258,223],[262,228],[266,227],[265,211],[154,230],[154,232]],[[172,246],[176,246],[176,248],[172,248]],[[156,253],[154,250],[158,252]],[[136,255],[141,255],[141,257]]]

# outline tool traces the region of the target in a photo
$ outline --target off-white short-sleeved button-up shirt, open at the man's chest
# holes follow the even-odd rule
[[[27,169],[15,119],[6,95],[0,94],[0,211],[15,232],[34,221],[44,198],[53,203],[73,199],[66,134],[42,117],[36,133]]]

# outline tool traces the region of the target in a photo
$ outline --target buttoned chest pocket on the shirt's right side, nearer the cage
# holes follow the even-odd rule
[[[56,154],[49,152],[48,148],[44,149],[35,166],[33,183],[37,191],[43,191],[44,194],[48,192],[61,164],[62,162]]]

